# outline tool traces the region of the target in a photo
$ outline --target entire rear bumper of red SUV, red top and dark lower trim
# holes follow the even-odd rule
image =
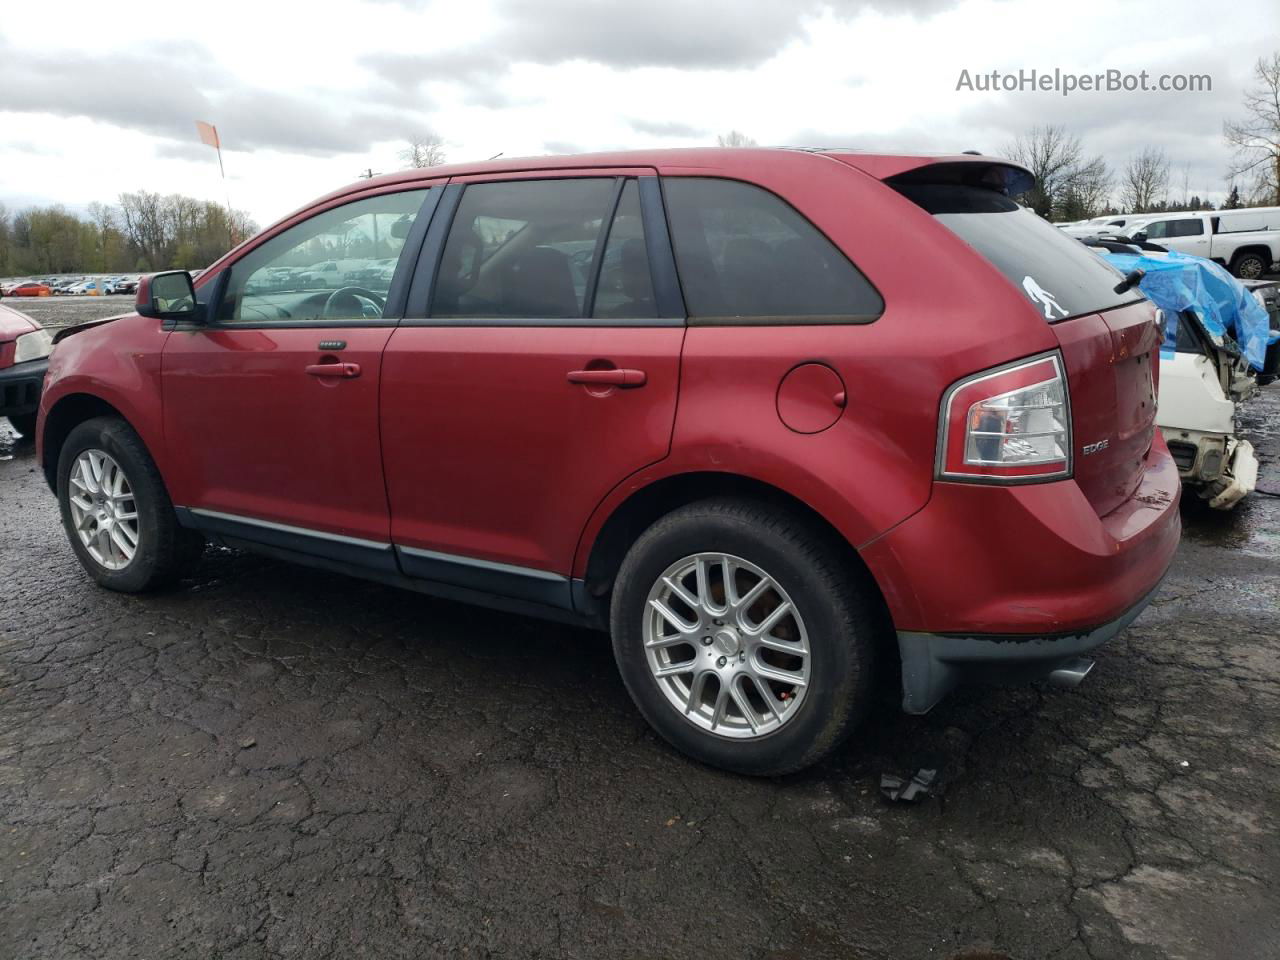
[[[1103,517],[1074,480],[936,483],[861,550],[897,630],[904,709],[968,678],[1044,676],[1129,626],[1178,549],[1180,493],[1158,434],[1138,489]]]

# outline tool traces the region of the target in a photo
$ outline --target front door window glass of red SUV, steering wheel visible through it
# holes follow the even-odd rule
[[[376,320],[428,191],[344,204],[291,227],[230,268],[221,323]]]

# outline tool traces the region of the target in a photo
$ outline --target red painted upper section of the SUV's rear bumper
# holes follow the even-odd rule
[[[1074,480],[934,483],[860,550],[893,625],[948,636],[1064,636],[1120,618],[1178,549],[1178,465],[1155,438],[1138,489],[1100,517]]]

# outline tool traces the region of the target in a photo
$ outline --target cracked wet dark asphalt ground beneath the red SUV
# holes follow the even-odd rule
[[[603,635],[215,548],[102,591],[4,424],[0,957],[1280,956],[1280,500],[1184,520],[1078,690],[886,690],[762,781],[658,741]]]

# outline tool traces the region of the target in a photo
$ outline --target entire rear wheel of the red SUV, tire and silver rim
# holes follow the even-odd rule
[[[613,652],[645,719],[739,773],[808,767],[870,699],[870,603],[804,517],[710,499],[667,515],[618,572]]]

